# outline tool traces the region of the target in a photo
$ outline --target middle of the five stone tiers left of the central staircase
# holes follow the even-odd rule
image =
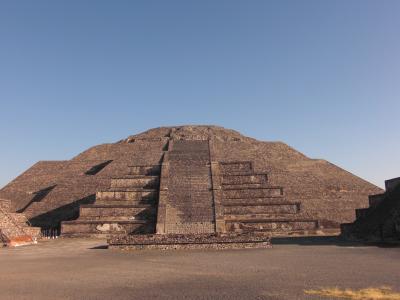
[[[110,190],[96,193],[98,200],[120,200],[120,201],[157,201],[158,190],[156,189],[133,189],[133,190]]]

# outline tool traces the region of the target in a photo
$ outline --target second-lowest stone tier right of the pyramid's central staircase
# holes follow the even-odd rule
[[[258,215],[258,214],[296,214],[299,212],[299,204],[272,204],[272,205],[248,205],[248,206],[224,206],[224,215]]]

